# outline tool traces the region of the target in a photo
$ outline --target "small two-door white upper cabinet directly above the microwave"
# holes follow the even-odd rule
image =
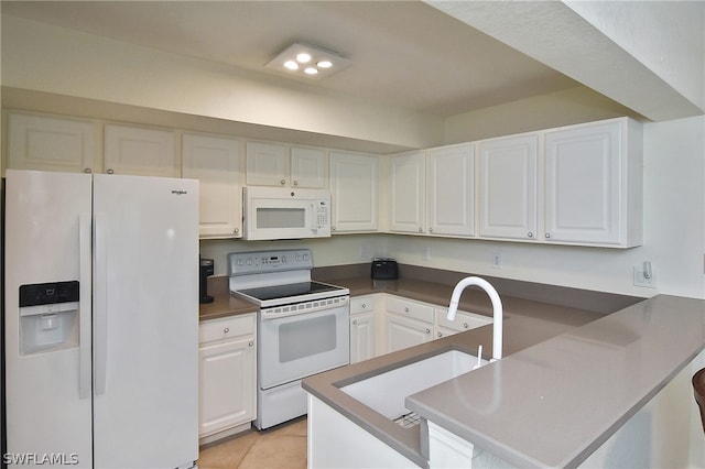
[[[327,187],[325,150],[247,142],[247,184],[274,187]]]

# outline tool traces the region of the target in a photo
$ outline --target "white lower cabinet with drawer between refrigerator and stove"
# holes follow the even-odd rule
[[[247,429],[257,410],[256,314],[199,326],[198,436],[208,443]]]

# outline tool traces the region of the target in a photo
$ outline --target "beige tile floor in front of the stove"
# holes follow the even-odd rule
[[[200,448],[198,469],[305,469],[306,418]]]

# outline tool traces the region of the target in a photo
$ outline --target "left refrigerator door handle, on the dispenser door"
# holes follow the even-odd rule
[[[78,216],[78,399],[90,397],[90,214]]]

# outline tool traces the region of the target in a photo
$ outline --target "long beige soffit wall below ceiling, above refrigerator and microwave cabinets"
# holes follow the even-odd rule
[[[443,138],[437,117],[9,15],[2,86],[406,148]]]

